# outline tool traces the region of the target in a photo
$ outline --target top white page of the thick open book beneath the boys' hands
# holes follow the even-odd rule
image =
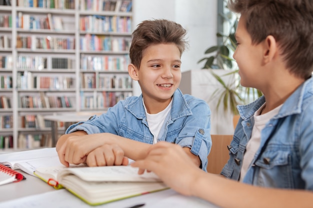
[[[103,182],[159,182],[160,179],[154,173],[145,172],[138,175],[138,168],[131,166],[103,166],[103,167],[83,167],[66,168],[59,174],[58,178],[66,175],[76,175],[84,181]],[[59,181],[59,180],[58,180]]]

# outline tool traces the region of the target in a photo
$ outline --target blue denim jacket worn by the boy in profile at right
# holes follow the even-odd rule
[[[230,158],[221,174],[238,180],[254,112],[265,102],[238,106],[240,119],[228,146]],[[261,131],[243,183],[261,187],[313,191],[313,78],[300,85]]]

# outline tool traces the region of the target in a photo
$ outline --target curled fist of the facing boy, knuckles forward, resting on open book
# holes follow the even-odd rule
[[[126,166],[128,165],[128,158],[124,157],[124,151],[118,145],[103,145],[87,155],[86,164],[89,167]]]

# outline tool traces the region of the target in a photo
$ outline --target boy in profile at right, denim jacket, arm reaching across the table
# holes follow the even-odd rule
[[[228,6],[241,14],[233,55],[240,83],[264,96],[238,106],[221,175],[199,171],[180,147],[165,143],[132,166],[222,208],[312,208],[313,1],[229,0]]]

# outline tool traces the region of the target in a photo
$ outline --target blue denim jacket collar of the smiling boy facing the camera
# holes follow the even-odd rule
[[[132,102],[125,104],[125,109],[127,109],[132,115],[137,119],[145,120],[145,112],[142,103],[142,94],[134,99]],[[172,107],[170,110],[170,120],[175,121],[182,116],[192,115],[191,109],[189,108],[183,94],[179,89],[175,90],[173,94]]]

